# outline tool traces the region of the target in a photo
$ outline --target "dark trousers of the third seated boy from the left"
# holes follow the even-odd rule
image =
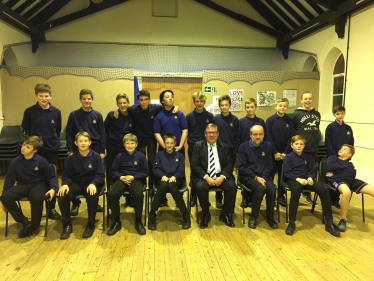
[[[143,186],[144,181],[133,180],[130,185],[120,180],[114,182],[108,193],[108,201],[112,209],[112,218],[117,220],[120,218],[119,199],[125,191],[129,191],[134,203],[135,218],[140,219],[143,212]]]

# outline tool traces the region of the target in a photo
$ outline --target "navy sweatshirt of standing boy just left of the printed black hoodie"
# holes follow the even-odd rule
[[[290,143],[295,134],[295,127],[290,117],[287,115],[281,117],[275,113],[266,119],[266,129],[267,139],[273,145],[273,154],[277,152],[288,154],[292,151]]]

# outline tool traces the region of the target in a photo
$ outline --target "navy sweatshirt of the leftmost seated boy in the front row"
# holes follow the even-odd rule
[[[19,185],[44,183],[50,189],[57,190],[57,179],[51,166],[38,154],[34,154],[31,159],[26,159],[21,154],[10,162],[3,191],[13,187],[16,182]]]

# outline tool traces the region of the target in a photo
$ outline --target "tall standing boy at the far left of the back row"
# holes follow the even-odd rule
[[[34,88],[36,104],[27,108],[23,114],[22,128],[25,136],[39,136],[43,139],[43,146],[37,149],[37,154],[47,159],[48,163],[58,164],[60,149],[61,111],[52,106],[51,87],[48,84],[37,84]],[[56,211],[56,198],[51,198],[48,217],[59,220]]]

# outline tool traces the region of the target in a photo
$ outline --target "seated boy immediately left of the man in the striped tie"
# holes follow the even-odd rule
[[[175,151],[176,137],[173,134],[164,135],[165,150],[156,154],[153,164],[153,173],[157,192],[153,198],[151,211],[148,218],[148,229],[156,230],[156,212],[167,192],[173,196],[176,205],[183,215],[183,229],[191,227],[190,212],[183,200],[179,189],[185,181],[184,157],[183,154]]]

